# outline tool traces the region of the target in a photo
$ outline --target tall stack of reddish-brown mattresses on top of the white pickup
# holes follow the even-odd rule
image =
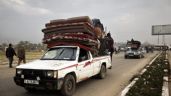
[[[42,29],[43,43],[48,47],[57,45],[78,45],[97,52],[98,38],[104,37],[104,29],[99,19],[88,16],[51,20]]]

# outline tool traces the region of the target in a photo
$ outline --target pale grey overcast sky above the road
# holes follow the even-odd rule
[[[157,44],[151,26],[171,24],[171,0],[0,0],[0,43],[40,43],[45,23],[77,16],[99,18],[115,42]]]

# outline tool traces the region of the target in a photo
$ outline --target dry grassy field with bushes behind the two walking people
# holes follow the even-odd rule
[[[44,50],[46,50],[46,45],[44,44],[34,44],[29,41],[20,41],[18,44],[13,44],[13,48],[17,53],[18,47],[23,46],[26,50],[26,62],[30,60],[35,60],[41,58]],[[5,49],[8,47],[8,44],[3,43],[0,45],[0,64],[6,64],[8,62],[5,56]],[[18,58],[14,56],[14,63],[18,61]]]

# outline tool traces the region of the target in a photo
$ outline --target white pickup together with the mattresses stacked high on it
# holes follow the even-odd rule
[[[43,42],[49,49],[40,60],[17,66],[15,83],[29,92],[61,90],[63,95],[71,96],[76,83],[92,76],[105,78],[107,69],[112,68],[111,58],[99,55],[97,39],[102,38],[102,32],[96,34],[91,24],[88,17],[46,24]]]

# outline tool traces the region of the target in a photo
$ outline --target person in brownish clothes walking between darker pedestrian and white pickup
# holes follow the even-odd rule
[[[17,51],[17,56],[18,56],[18,65],[23,61],[23,63],[26,63],[25,59],[25,49],[23,46],[20,46]]]

